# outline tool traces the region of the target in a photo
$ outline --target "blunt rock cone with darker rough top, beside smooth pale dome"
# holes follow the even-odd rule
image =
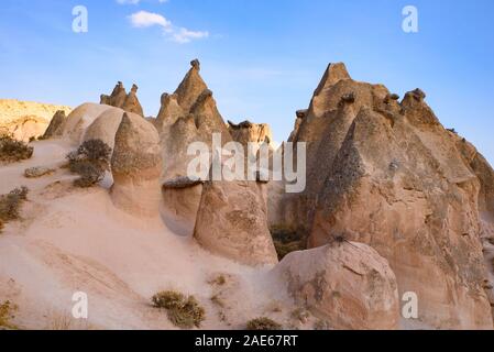
[[[157,216],[162,200],[162,167],[156,129],[141,117],[124,113],[111,158],[113,204],[134,216]]]

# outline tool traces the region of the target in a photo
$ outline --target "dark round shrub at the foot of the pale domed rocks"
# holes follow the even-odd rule
[[[74,185],[87,188],[96,185],[110,169],[111,147],[101,140],[84,142],[79,148],[67,155],[70,172],[80,175]]]

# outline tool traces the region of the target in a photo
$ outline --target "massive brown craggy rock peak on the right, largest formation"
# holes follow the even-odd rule
[[[311,248],[342,234],[371,245],[399,294],[418,295],[420,321],[492,328],[481,233],[492,231],[494,173],[440,124],[421,90],[396,98],[330,65],[293,133],[307,142],[307,189],[279,200],[295,215],[274,218],[295,220]]]

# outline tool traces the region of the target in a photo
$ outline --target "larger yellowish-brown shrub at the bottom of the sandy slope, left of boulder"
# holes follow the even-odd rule
[[[178,328],[193,329],[200,328],[206,319],[206,311],[194,296],[167,290],[153,296],[153,305],[156,308],[164,308],[168,319]]]

